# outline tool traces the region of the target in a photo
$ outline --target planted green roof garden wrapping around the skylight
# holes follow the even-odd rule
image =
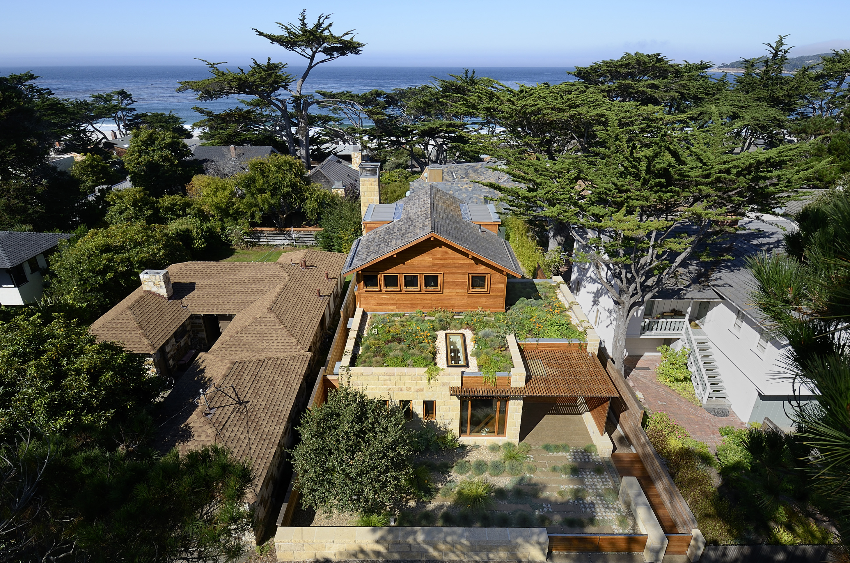
[[[360,342],[357,367],[430,367],[436,365],[437,333],[470,330],[473,350],[485,376],[508,372],[513,367],[507,335],[526,338],[573,338],[585,342],[585,333],[570,321],[564,304],[551,283],[535,283],[527,297],[519,297],[504,313],[485,310],[455,314],[448,310],[428,313],[371,315]]]

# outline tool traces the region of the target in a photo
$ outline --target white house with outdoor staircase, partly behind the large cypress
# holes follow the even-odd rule
[[[665,290],[634,311],[626,353],[659,354],[661,344],[684,346],[691,350],[694,390],[704,407],[731,408],[745,422],[761,423],[768,417],[787,428],[794,390],[784,377],[785,343],[771,340],[762,329],[750,299],[755,280],[744,262],[746,256],[781,249],[783,234],[796,225],[774,216],[760,218],[741,219],[739,226],[745,230],[723,243],[723,252],[732,259],[694,265],[690,285]],[[603,344],[610,347],[613,299],[589,264],[573,266],[570,285]]]

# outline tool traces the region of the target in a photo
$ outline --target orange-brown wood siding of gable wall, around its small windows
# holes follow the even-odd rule
[[[365,291],[363,273],[378,274],[442,274],[439,292],[373,292]],[[469,274],[490,274],[490,291],[469,293]],[[505,310],[507,275],[482,260],[469,258],[455,247],[439,239],[417,242],[377,264],[355,274],[357,305],[366,311],[395,312],[448,309],[453,311]]]

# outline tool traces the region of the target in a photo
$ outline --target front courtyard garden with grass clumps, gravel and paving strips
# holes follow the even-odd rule
[[[504,459],[512,456],[525,459]],[[427,469],[419,469],[419,474],[427,475],[431,492],[395,514],[398,526],[541,526],[549,533],[638,533],[632,515],[617,499],[619,483],[590,445],[582,449],[545,444],[527,451],[514,444],[507,450],[498,444],[460,446],[422,453],[413,461]],[[464,484],[484,486],[489,498],[485,509],[459,502]],[[359,515],[317,515],[300,508],[292,520],[292,526],[376,523]]]

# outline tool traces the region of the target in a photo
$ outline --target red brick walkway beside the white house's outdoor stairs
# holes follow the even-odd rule
[[[632,385],[632,389],[643,395],[641,402],[648,412],[666,412],[670,418],[682,424],[694,440],[706,442],[712,451],[723,440],[723,436],[717,431],[718,428],[745,428],[745,424],[731,409],[728,417],[716,417],[666,385],[660,384],[655,379],[655,368],[660,361],[660,355],[643,355],[628,357],[624,362],[626,381]]]

